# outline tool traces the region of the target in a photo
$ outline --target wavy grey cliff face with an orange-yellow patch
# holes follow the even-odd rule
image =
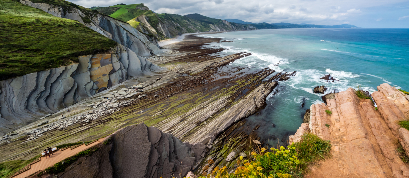
[[[118,45],[79,63],[0,81],[0,136],[130,78],[164,69]]]

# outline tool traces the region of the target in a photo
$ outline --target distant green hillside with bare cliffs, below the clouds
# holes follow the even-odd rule
[[[160,40],[174,38],[182,33],[256,29],[248,24],[229,23],[226,20],[209,18],[197,13],[186,16],[155,13],[144,4],[123,4],[91,9],[127,22],[138,31]]]

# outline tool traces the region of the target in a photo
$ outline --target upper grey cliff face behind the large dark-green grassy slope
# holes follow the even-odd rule
[[[152,56],[153,54],[164,53],[159,49],[157,40],[147,38],[126,22],[116,20],[101,13],[87,12],[90,14],[90,16],[87,16],[76,8],[34,3],[29,0],[20,0],[20,2],[41,9],[56,17],[77,20],[97,33],[124,45],[139,56]],[[91,22],[85,23],[83,18],[89,18]]]

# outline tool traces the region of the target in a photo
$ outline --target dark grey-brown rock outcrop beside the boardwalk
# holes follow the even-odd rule
[[[119,129],[104,142],[98,145],[98,151],[79,158],[58,177],[184,177],[196,168],[206,148],[201,143],[181,142],[172,134],[144,124]]]

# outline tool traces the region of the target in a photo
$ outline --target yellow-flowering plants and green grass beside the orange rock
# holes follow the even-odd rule
[[[331,144],[314,134],[306,133],[300,142],[292,143],[288,148],[259,148],[258,153],[243,160],[240,156],[235,172],[228,173],[226,167],[215,167],[211,174],[202,174],[199,178],[290,178],[303,177],[303,172],[308,170],[308,164],[330,154]],[[254,158],[254,160],[253,160]],[[203,169],[208,170],[213,160]],[[203,171],[206,172],[206,171]]]

